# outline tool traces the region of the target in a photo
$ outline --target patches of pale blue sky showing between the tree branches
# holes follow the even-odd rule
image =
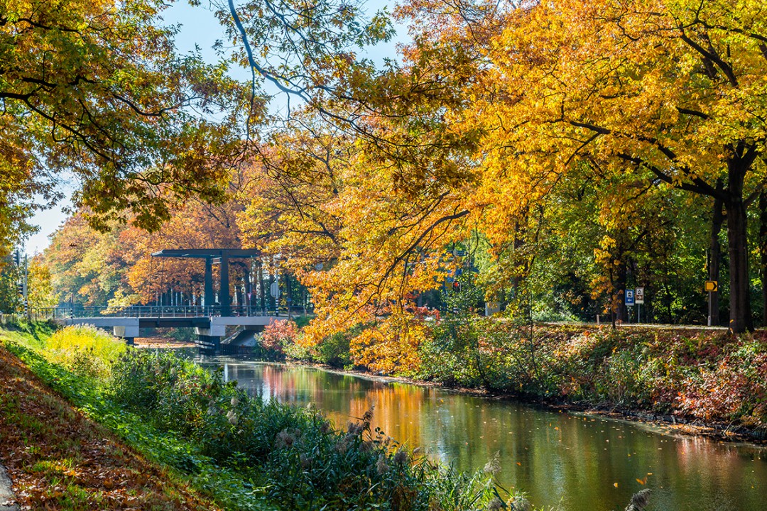
[[[235,0],[235,5],[237,3]],[[372,0],[368,5],[370,9],[377,9],[389,4],[390,2],[385,0]],[[226,41],[224,31],[221,25],[219,25],[218,19],[216,19],[216,16],[213,15],[209,8],[206,8],[206,5],[208,5],[206,0],[202,0],[201,7],[192,7],[184,1],[176,2],[163,12],[163,19],[169,25],[179,24],[179,34],[176,36],[176,47],[179,52],[194,51],[195,45],[197,45],[202,52],[202,57],[206,61],[215,62],[218,60],[218,56],[212,50],[213,44],[216,43],[216,40],[222,39],[226,46],[228,41]],[[406,36],[404,32],[400,28],[394,41],[375,47],[373,51],[370,51],[369,57],[373,57],[376,60],[383,57],[394,57],[397,41],[403,41]],[[250,71],[243,68],[233,68],[231,73],[233,77],[241,80],[250,79]],[[273,100],[276,107],[279,107],[282,102],[284,102],[284,99],[281,97],[275,97],[275,100]],[[32,224],[38,225],[40,231],[28,239],[25,245],[27,254],[32,255],[42,252],[48,246],[48,237],[67,218],[63,209],[71,205],[69,195],[71,195],[73,186],[71,183],[63,183],[62,190],[66,193],[67,198],[60,201],[54,208],[39,211],[32,219]]]

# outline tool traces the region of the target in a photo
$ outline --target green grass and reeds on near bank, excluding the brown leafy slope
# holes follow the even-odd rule
[[[252,398],[220,372],[172,354],[118,349],[89,329],[14,339],[8,349],[46,385],[225,509],[503,505],[492,474],[414,457],[370,431],[370,417],[337,431],[319,411]],[[75,503],[79,496],[61,498]]]

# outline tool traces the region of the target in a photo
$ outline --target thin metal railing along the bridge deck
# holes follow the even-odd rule
[[[222,316],[221,306],[58,306],[35,309],[31,313],[37,319],[75,319],[93,317],[123,317],[123,318],[193,318]],[[285,314],[285,312],[283,312]],[[228,316],[279,316],[280,311],[265,310],[255,306],[230,306]]]

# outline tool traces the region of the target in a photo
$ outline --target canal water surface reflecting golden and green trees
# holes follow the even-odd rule
[[[763,447],[305,367],[214,363],[252,395],[313,402],[341,427],[375,404],[373,427],[461,470],[481,468],[499,452],[499,483],[524,490],[538,506],[623,509],[633,493],[649,487],[650,509],[767,509]]]

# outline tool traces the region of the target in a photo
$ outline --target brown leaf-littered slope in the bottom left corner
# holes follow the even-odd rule
[[[88,420],[0,346],[0,460],[21,509],[219,509]]]

